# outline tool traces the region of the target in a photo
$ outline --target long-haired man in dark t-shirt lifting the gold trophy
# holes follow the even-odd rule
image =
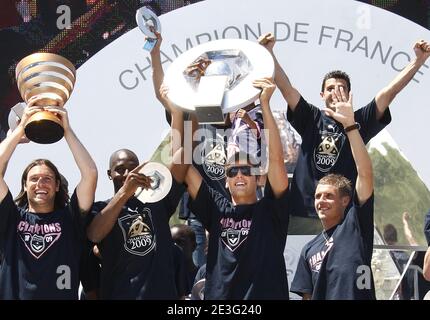
[[[0,300],[77,299],[84,214],[94,201],[97,168],[71,129],[66,109],[32,105],[0,144]],[[25,139],[28,119],[42,110],[61,120],[81,174],[70,201],[61,174],[46,159],[34,160],[24,170],[15,201],[4,180],[12,153]]]

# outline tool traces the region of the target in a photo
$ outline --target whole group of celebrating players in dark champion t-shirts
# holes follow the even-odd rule
[[[155,203],[134,196],[138,188],[151,188],[152,181],[141,173],[146,162],[128,149],[114,151],[109,159],[113,196],[95,202],[97,168],[67,111],[29,103],[0,144],[0,299],[77,299],[79,283],[85,299],[286,300],[290,291],[303,299],[376,299],[373,170],[365,144],[391,122],[389,105],[428,59],[430,44],[417,41],[415,59],[354,111],[345,72],[323,78],[320,109],[305,100],[278,63],[275,37],[265,34],[258,41],[273,56],[274,78],[254,79],[252,85],[261,91],[258,103],[227,115],[233,134],[212,143],[213,150],[196,153],[206,159],[188,164],[185,121],[193,130],[214,133],[204,140],[218,137],[213,126],[198,124],[169,100],[157,33],[153,85],[171,126],[173,182]],[[276,88],[302,138],[291,183],[270,106]],[[29,117],[42,109],[61,119],[81,180],[69,198],[67,180],[55,165],[37,159],[24,170],[14,199],[4,180],[7,165],[23,142]],[[261,168],[263,148],[267,163]],[[211,165],[222,168],[221,177],[207,174],[209,157]],[[180,201],[191,218],[188,225],[170,228]],[[323,230],[303,247],[289,287],[284,247],[291,217]],[[193,256],[196,248],[203,256]],[[428,261],[430,253],[425,275]]]

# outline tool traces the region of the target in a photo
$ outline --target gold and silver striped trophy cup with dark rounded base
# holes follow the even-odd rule
[[[34,53],[18,63],[15,76],[18,90],[27,104],[63,107],[73,91],[76,69],[62,56]],[[64,129],[54,113],[40,111],[30,117],[25,135],[36,143],[48,144],[59,141]]]

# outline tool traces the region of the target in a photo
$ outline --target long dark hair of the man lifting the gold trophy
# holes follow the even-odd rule
[[[55,194],[54,199],[54,210],[57,209],[63,209],[66,207],[67,203],[69,202],[69,193],[68,193],[68,185],[64,182],[67,181],[64,177],[62,178],[62,175],[58,171],[57,167],[48,159],[36,159],[33,160],[22,173],[21,177],[21,191],[15,198],[15,203],[18,207],[27,207],[28,206],[28,198],[27,198],[27,191],[25,191],[25,182],[27,181],[27,176],[30,170],[36,166],[42,166],[45,165],[49,169],[54,172],[55,175],[55,181],[59,184],[59,190]],[[64,181],[63,181],[64,179]]]

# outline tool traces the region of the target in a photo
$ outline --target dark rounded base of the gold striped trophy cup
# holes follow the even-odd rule
[[[43,112],[43,111],[42,111]],[[35,115],[38,115],[38,112]],[[25,126],[25,135],[33,142],[40,144],[54,143],[64,136],[64,129],[60,124],[60,120],[49,112],[49,118],[41,118],[38,116],[36,119],[29,121]]]

